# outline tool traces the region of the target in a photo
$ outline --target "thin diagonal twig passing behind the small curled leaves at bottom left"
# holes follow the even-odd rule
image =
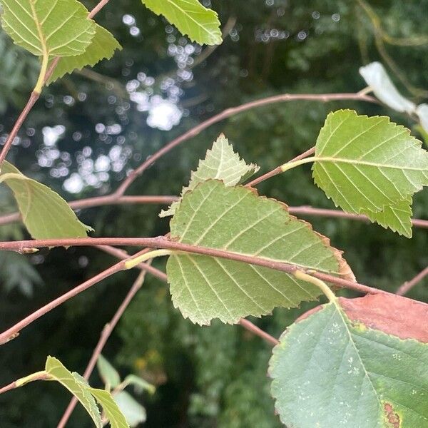
[[[118,310],[116,311],[116,313],[113,315],[113,318],[103,328],[100,339],[98,340],[98,343],[96,344],[96,347],[93,350],[91,360],[89,360],[86,370],[83,374],[83,377],[86,380],[89,380],[89,377],[91,376],[93,369],[96,366],[96,362],[98,361],[98,357],[101,355],[103,347],[107,343],[108,337],[110,337],[117,323],[121,319],[123,312],[125,312],[126,308],[131,303],[131,300],[143,285],[145,276],[146,276],[146,270],[141,270],[140,274],[138,275],[137,279],[133,283],[132,287],[129,289],[125,299],[123,299],[123,302],[118,307]],[[71,401],[68,403],[68,407],[66,408],[66,411],[64,412],[63,417],[61,417],[61,420],[59,421],[57,428],[63,428],[66,426],[66,423],[68,419],[70,419],[71,413],[73,413],[73,410],[74,410],[74,407],[76,407],[76,404],[77,404],[77,398],[73,397]]]

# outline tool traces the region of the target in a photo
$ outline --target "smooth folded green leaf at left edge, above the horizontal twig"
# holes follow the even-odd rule
[[[1,163],[0,180],[11,188],[22,220],[34,239],[86,238],[83,225],[58,193],[21,174],[11,163]]]

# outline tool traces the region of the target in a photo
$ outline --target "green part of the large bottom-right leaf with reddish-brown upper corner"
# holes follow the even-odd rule
[[[427,365],[427,343],[351,321],[332,302],[284,332],[269,373],[287,427],[413,428],[428,427]]]

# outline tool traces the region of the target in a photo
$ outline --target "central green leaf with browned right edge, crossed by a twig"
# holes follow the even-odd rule
[[[290,216],[284,204],[218,180],[200,183],[184,195],[170,222],[170,235],[180,243],[353,277],[327,238]],[[175,253],[168,259],[167,273],[175,307],[201,325],[213,318],[238,322],[320,295],[314,285],[285,272],[205,255]]]

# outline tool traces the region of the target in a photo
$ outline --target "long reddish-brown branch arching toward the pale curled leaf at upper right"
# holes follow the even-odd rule
[[[241,106],[227,108],[226,110],[222,111],[221,113],[218,113],[212,118],[209,118],[207,121],[203,121],[198,126],[195,126],[195,128],[190,129],[190,131],[183,133],[183,135],[179,136],[178,138],[175,138],[173,141],[170,141],[170,143],[168,143],[166,146],[163,146],[161,150],[154,153],[153,156],[150,156],[149,158],[147,158],[146,161],[144,161],[140,166],[138,166],[138,168],[133,170],[131,174],[128,175],[128,178],[126,178],[126,180],[123,181],[123,183],[119,186],[118,190],[116,190],[115,194],[117,196],[123,195],[123,193],[126,192],[126,190],[133,183],[133,181],[136,180],[136,178],[139,175],[141,175],[149,166],[153,165],[153,163],[155,163],[159,158],[165,155],[165,153],[168,153],[173,148],[178,146],[180,143],[183,143],[183,141],[186,141],[189,138],[197,136],[201,131],[210,127],[214,123],[223,121],[224,119],[230,118],[230,116],[234,116],[235,114],[248,111],[251,108],[266,106],[272,103],[282,103],[285,101],[302,101],[302,100],[322,101],[325,103],[328,101],[355,100],[355,101],[367,101],[369,103],[377,103],[376,98],[365,95],[363,93],[320,93],[320,94],[283,93],[281,95],[275,95],[275,96],[270,96],[270,97],[263,98],[256,101],[250,101],[249,103],[242,104]]]

